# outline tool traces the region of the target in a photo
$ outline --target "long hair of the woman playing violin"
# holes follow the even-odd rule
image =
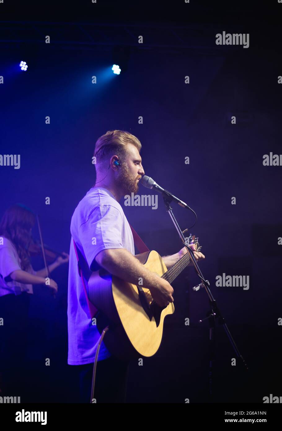
[[[34,213],[21,204],[6,209],[0,222],[0,236],[8,238],[14,244],[23,271],[30,267],[28,247],[31,242],[30,229],[34,223]]]

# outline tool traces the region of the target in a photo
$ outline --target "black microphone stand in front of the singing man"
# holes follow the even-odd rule
[[[208,280],[205,280],[200,268],[198,267],[198,263],[195,259],[193,250],[191,250],[185,240],[185,237],[183,235],[183,232],[181,231],[176,218],[174,217],[174,214],[172,212],[172,208],[170,206],[171,201],[174,199],[173,195],[170,194],[170,192],[168,192],[167,190],[163,191],[162,196],[164,198],[164,205],[167,208],[167,212],[170,215],[170,218],[172,219],[174,226],[180,236],[180,239],[182,240],[183,244],[185,245],[187,252],[189,253],[190,259],[194,264],[195,270],[199,276],[199,278],[201,279],[201,283],[198,284],[198,286],[193,287],[194,291],[197,291],[200,289],[200,287],[204,287],[205,291],[208,294],[208,298],[209,298],[209,303],[210,303],[210,310],[207,313],[207,317],[205,319],[199,320],[199,323],[205,322],[205,320],[208,320],[209,323],[209,371],[208,371],[208,382],[209,382],[209,396],[210,396],[210,400],[212,401],[212,397],[213,397],[213,361],[214,361],[214,357],[215,357],[215,341],[214,341],[214,335],[215,335],[215,328],[216,328],[216,319],[218,320],[220,325],[223,325],[223,328],[227,334],[227,337],[229,338],[230,344],[233,347],[233,350],[235,351],[237,357],[239,357],[243,363],[243,365],[245,366],[245,369],[248,370],[248,365],[245,362],[245,359],[243,358],[243,356],[241,355],[241,353],[238,350],[238,347],[236,346],[235,341],[233,340],[233,337],[225,323],[225,319],[222,316],[216,300],[214,299],[213,295],[211,294],[211,290],[210,290],[210,283]]]

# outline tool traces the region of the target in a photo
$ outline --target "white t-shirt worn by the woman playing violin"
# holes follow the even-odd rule
[[[0,244],[0,297],[8,294],[20,295],[22,292],[33,294],[32,284],[19,283],[9,277],[13,271],[22,269],[21,259],[12,241],[5,237],[2,238],[3,244]],[[26,272],[36,275],[32,266]]]

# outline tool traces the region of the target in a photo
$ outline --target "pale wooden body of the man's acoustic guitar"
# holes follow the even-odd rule
[[[135,257],[159,276],[167,272],[164,261],[154,250]],[[92,273],[88,286],[89,299],[99,310],[96,325],[100,334],[109,325],[103,341],[112,355],[119,359],[154,355],[161,344],[164,318],[174,312],[174,304],[159,307],[149,289],[137,287],[103,269]],[[148,315],[150,312],[151,315]]]

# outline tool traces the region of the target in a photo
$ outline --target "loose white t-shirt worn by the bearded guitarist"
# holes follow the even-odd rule
[[[73,239],[80,251],[81,268],[88,294],[87,280],[98,270],[96,255],[106,249],[125,248],[134,255],[130,225],[115,197],[102,187],[91,188],[77,205],[71,218],[71,245],[68,271],[68,364],[94,362],[100,334],[92,325],[84,287],[77,270]],[[98,360],[111,353],[102,342]]]

